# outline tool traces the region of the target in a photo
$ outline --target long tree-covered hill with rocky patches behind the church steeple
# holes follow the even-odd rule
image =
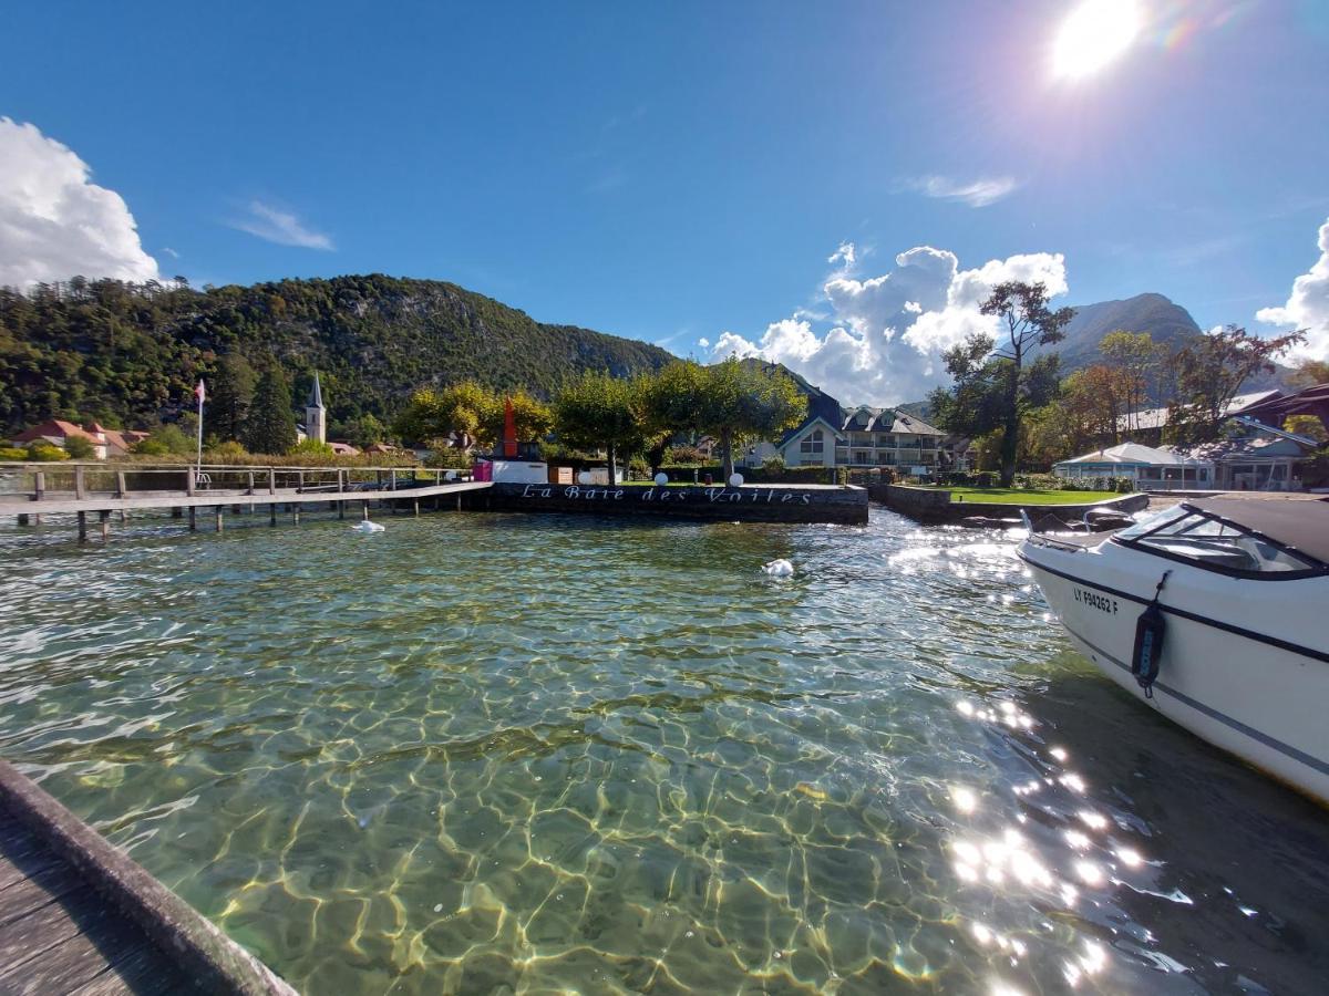
[[[0,428],[171,420],[229,352],[255,367],[276,360],[296,402],[319,371],[332,424],[387,421],[424,385],[472,378],[548,397],[578,371],[622,376],[674,359],[437,280],[373,274],[195,291],[74,278],[29,293],[0,288]]]

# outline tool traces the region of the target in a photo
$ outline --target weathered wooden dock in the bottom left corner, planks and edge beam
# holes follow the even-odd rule
[[[0,993],[295,996],[4,761]]]

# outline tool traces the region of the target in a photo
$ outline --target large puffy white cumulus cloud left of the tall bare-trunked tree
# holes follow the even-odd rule
[[[956,254],[920,246],[896,256],[896,267],[859,280],[829,278],[823,295],[829,328],[795,315],[769,324],[759,339],[724,332],[712,359],[760,356],[783,363],[844,404],[917,401],[948,380],[941,353],[973,332],[995,332],[978,305],[1005,280],[1042,282],[1066,293],[1066,260],[1035,252],[961,270]]]

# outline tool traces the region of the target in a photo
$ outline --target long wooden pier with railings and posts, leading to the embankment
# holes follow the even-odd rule
[[[335,507],[342,518],[355,506],[367,514],[371,503],[419,514],[421,507],[443,509],[445,501],[460,507],[461,494],[489,486],[420,467],[16,463],[0,465],[0,515],[29,525],[43,515],[73,514],[78,538],[86,539],[89,515],[97,517],[105,538],[112,514],[125,522],[133,513],[169,510],[187,515],[197,529],[203,510],[221,531],[226,509],[254,513],[267,506],[272,526],[279,509],[299,523],[300,510],[311,505]]]

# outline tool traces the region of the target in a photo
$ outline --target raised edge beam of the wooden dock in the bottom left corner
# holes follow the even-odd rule
[[[73,865],[149,940],[177,959],[203,992],[296,996],[267,965],[3,758],[0,809]]]

